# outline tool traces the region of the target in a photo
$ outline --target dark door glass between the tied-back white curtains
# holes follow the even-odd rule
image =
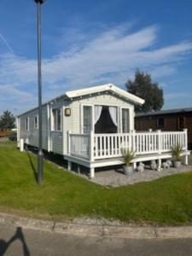
[[[100,119],[96,122],[95,133],[116,133],[117,126],[113,124],[107,106],[102,106]]]

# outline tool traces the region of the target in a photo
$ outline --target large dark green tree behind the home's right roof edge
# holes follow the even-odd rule
[[[163,90],[158,83],[151,81],[148,73],[142,73],[137,69],[135,80],[128,80],[125,84],[128,92],[139,96],[145,100],[143,106],[136,106],[136,112],[157,111],[163,107]]]

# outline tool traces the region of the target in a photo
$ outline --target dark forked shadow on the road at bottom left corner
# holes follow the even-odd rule
[[[20,240],[22,247],[23,247],[23,255],[24,256],[30,256],[29,249],[26,245],[25,236],[23,235],[22,228],[17,227],[15,231],[15,235],[12,236],[9,241],[4,241],[3,239],[0,239],[0,255],[3,256],[7,252],[9,246],[16,240]]]

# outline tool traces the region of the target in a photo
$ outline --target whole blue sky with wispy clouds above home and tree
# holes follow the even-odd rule
[[[42,6],[44,102],[113,83],[137,67],[164,89],[167,108],[192,107],[192,1],[47,0]],[[38,104],[32,0],[0,0],[0,113]]]

